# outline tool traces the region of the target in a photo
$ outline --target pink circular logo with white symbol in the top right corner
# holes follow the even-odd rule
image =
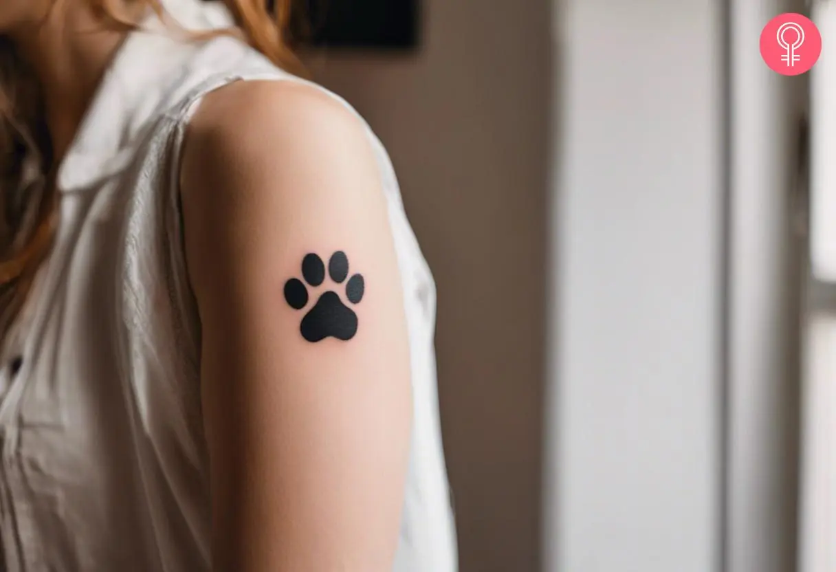
[[[778,74],[804,74],[821,53],[822,35],[816,24],[801,14],[776,16],[761,32],[763,61]]]

